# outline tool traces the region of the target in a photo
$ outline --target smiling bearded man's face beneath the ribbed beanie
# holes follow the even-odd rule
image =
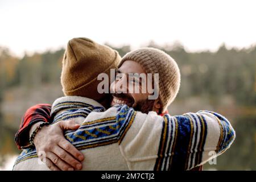
[[[125,61],[118,69],[115,81],[110,85],[110,90],[113,92],[111,106],[126,104],[143,113],[155,110],[154,106],[158,100],[148,100],[150,93],[148,93],[147,89],[145,93],[142,92],[142,86],[147,88],[147,84],[151,84],[151,80],[147,77],[144,79],[139,77],[130,79],[128,78],[129,73],[136,73],[138,75],[144,73],[146,75],[146,72],[139,63],[130,60]],[[135,92],[135,89],[139,90],[139,93]]]

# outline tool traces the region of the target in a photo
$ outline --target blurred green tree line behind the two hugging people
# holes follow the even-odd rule
[[[177,61],[181,71],[178,99],[206,94],[219,102],[221,96],[229,95],[238,105],[256,105],[256,46],[238,50],[226,49],[223,44],[217,52],[187,52],[180,44],[161,47],[151,42],[148,46],[162,49]],[[130,51],[130,46],[113,48],[121,56]],[[63,54],[60,49],[19,59],[0,47],[0,98],[13,86],[59,83]]]

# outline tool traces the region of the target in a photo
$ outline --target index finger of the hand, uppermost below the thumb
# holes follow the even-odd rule
[[[76,159],[78,159],[80,161],[84,160],[84,155],[82,154],[82,152],[77,150],[77,148],[75,146],[73,146],[73,144],[68,142],[68,140],[66,140],[65,138],[63,138],[63,140],[61,140],[58,144],[61,148],[63,148],[69,154],[74,156]]]

